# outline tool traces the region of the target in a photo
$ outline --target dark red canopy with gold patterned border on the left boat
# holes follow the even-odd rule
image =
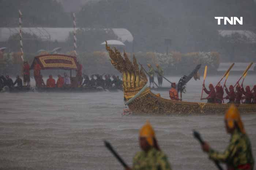
[[[30,67],[30,70],[34,69],[35,61],[40,64],[42,70],[47,69],[63,69],[63,70],[77,70],[76,57],[63,55],[63,54],[46,54],[36,56]]]

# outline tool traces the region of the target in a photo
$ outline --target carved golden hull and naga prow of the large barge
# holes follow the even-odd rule
[[[133,63],[124,52],[124,58],[120,52],[114,51],[106,44],[112,65],[123,73],[123,91],[125,101],[135,96],[146,84],[147,76],[143,67],[139,66],[133,55]],[[196,103],[169,100],[155,95],[147,88],[135,100],[128,104],[129,109],[136,114],[199,114],[199,113],[223,113],[230,106],[229,104]],[[240,104],[240,112],[256,112],[256,104]]]

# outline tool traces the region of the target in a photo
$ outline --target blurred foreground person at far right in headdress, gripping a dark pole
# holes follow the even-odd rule
[[[225,126],[227,133],[231,134],[226,150],[219,153],[205,142],[202,145],[203,151],[208,153],[210,159],[226,163],[227,170],[253,170],[251,142],[245,133],[239,111],[233,104],[226,111]]]

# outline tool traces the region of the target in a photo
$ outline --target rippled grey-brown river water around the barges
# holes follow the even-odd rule
[[[178,77],[170,80],[177,82]],[[219,76],[207,77],[206,84],[218,80]],[[230,75],[227,84],[236,80]],[[253,83],[255,75],[248,75],[245,84]],[[200,101],[201,90],[202,80],[191,80],[184,100]],[[168,92],[160,93],[168,98]],[[192,129],[199,130],[214,149],[224,150],[229,135],[223,114],[122,116],[123,108],[123,92],[0,94],[0,169],[123,169],[103,140],[132,165],[140,150],[138,131],[146,120],[173,169],[217,169]],[[242,119],[256,155],[256,115],[244,114]]]

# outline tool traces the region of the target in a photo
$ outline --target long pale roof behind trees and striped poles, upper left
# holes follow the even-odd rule
[[[79,28],[76,28],[79,29]],[[90,31],[91,28],[82,28],[84,30]],[[125,28],[105,28],[112,29],[114,34],[118,37],[118,40],[132,42],[133,36],[131,32],[129,32]],[[46,27],[24,27],[22,31],[25,33],[30,33],[31,35],[35,34],[40,37],[42,40],[50,40],[50,41],[59,41],[64,42],[67,40],[69,33],[72,32],[74,28],[46,28]],[[0,42],[7,41],[10,36],[19,33],[19,28],[0,28]]]

